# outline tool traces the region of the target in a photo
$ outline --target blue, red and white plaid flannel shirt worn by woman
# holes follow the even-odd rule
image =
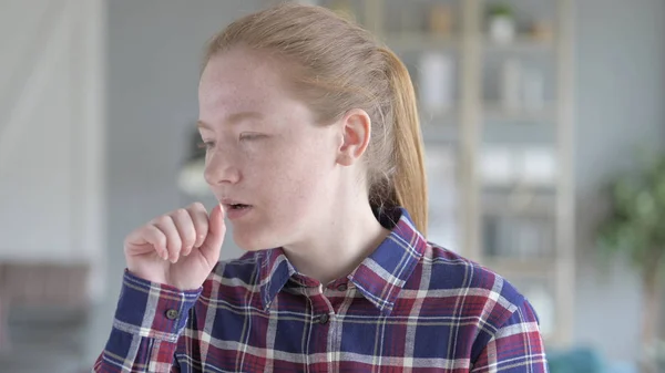
[[[279,248],[182,291],[125,271],[94,372],[548,372],[536,314],[508,281],[428,242],[403,209],[325,287]]]

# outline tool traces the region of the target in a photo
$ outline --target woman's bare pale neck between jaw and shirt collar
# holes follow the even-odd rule
[[[335,211],[331,220],[310,231],[309,240],[284,247],[298,272],[324,286],[351,273],[389,235],[367,199],[335,206]]]

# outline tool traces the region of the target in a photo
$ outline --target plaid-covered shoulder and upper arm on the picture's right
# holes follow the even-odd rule
[[[466,341],[475,370],[492,371],[497,362],[511,361],[520,372],[529,367],[542,371],[544,352],[538,315],[510,281],[431,242],[421,267],[423,279],[431,273],[429,281],[423,281],[428,284],[424,303],[458,328],[457,341]]]

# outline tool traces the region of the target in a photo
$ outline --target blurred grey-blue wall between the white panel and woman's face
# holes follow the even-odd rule
[[[187,139],[198,118],[205,42],[263,0],[109,0],[108,298],[90,329],[90,358],[109,336],[125,267],[124,237],[152,217],[192,200],[177,189]],[[204,200],[213,207],[214,200]],[[223,257],[241,250],[231,234]]]

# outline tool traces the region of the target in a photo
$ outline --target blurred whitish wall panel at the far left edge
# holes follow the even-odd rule
[[[0,2],[0,261],[106,252],[102,4]]]

